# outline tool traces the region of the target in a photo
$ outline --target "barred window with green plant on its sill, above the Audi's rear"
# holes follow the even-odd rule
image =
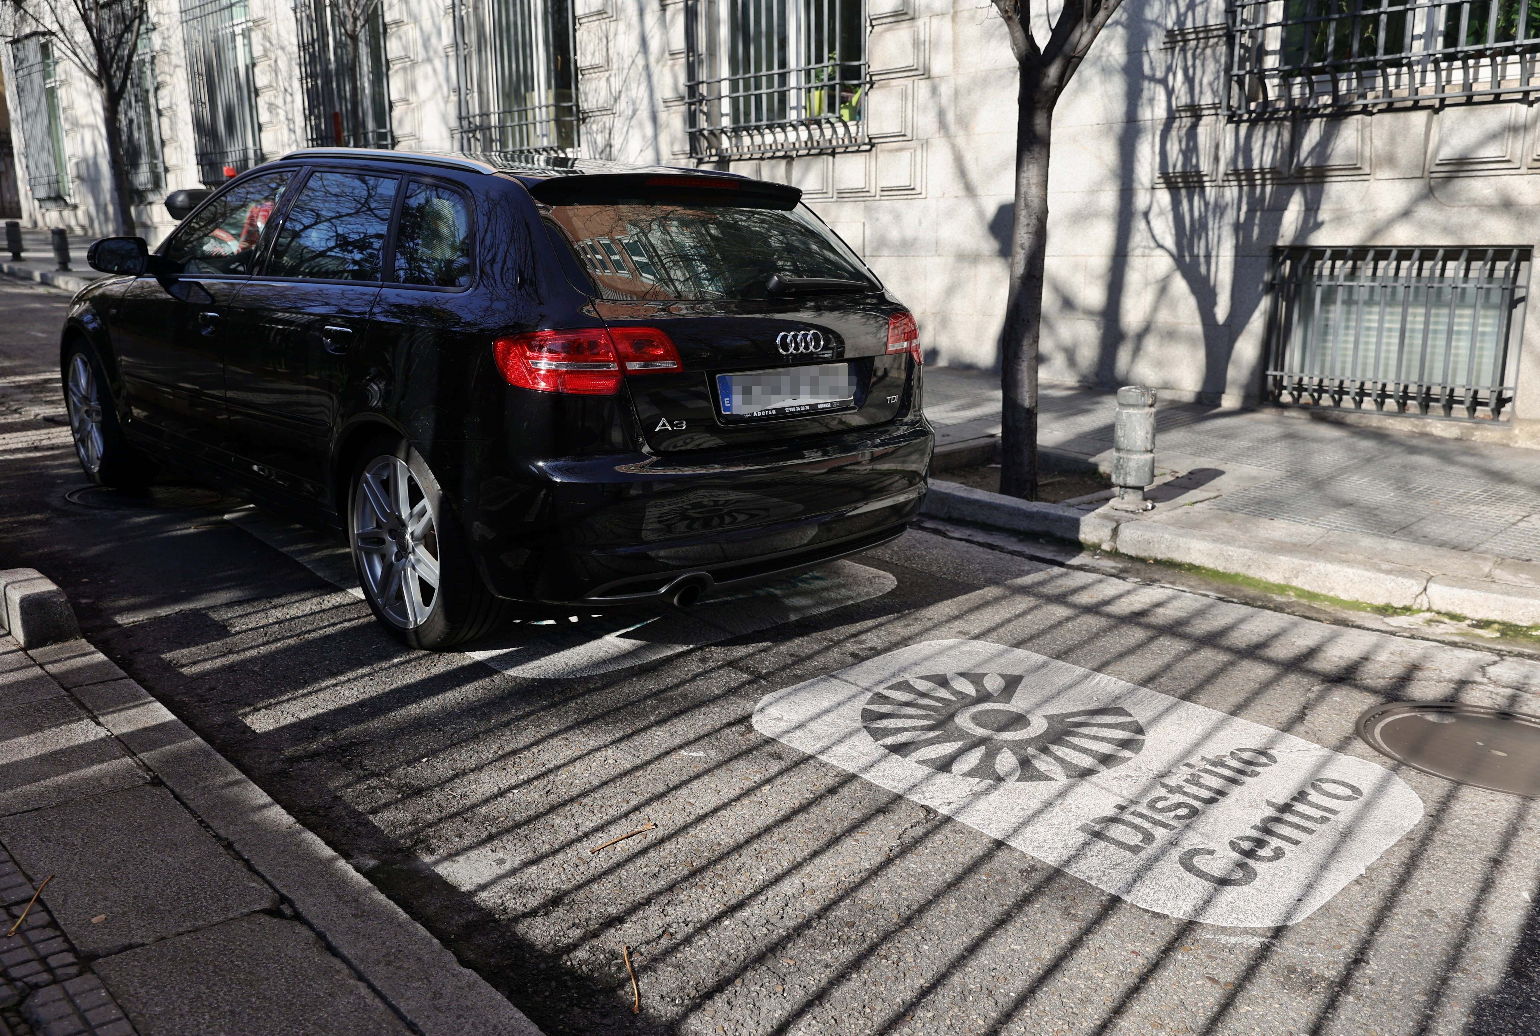
[[[864,0],[687,0],[690,153],[867,146],[865,45]]]

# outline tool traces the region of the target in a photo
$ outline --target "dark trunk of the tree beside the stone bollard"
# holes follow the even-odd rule
[[[1001,335],[999,492],[1038,495],[1038,342],[1043,257],[1049,236],[1049,145],[1053,97],[1021,69],[1016,99],[1016,217],[1010,234],[1010,294]]]

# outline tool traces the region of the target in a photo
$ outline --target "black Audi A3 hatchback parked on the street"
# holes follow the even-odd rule
[[[919,510],[915,321],[796,188],[319,148],[188,208],[92,245],[120,276],[63,331],[80,462],[346,533],[408,644],[688,604]]]

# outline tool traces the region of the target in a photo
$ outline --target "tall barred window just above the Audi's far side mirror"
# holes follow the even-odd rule
[[[182,0],[192,148],[209,187],[262,162],[246,0]]]

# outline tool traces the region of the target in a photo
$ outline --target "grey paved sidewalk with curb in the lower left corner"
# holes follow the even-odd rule
[[[0,634],[0,1033],[539,1036],[83,640]]]

